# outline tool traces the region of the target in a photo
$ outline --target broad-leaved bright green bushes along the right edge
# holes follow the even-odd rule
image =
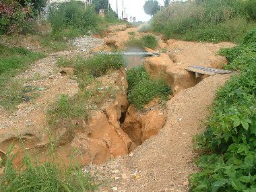
[[[222,51],[229,68],[241,74],[218,90],[207,130],[195,137],[205,155],[198,162],[202,171],[190,178],[191,191],[256,190],[255,38],[253,30],[239,46]]]

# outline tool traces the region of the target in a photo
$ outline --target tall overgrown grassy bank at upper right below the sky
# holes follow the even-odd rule
[[[255,6],[254,0],[175,1],[156,13],[151,26],[166,38],[237,42],[255,26]]]

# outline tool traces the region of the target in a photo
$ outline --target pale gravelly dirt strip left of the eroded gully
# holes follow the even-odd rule
[[[17,75],[20,82],[26,82],[24,86],[39,88],[36,90],[36,98],[30,102],[24,102],[18,106],[13,114],[9,114],[0,107],[0,143],[10,135],[36,135],[36,139],[43,143],[46,129],[46,110],[61,94],[73,96],[78,91],[75,76],[62,76],[61,68],[56,65],[59,57],[75,57],[76,55],[88,55],[92,49],[100,46],[103,40],[90,36],[77,38],[73,42],[74,49],[53,53],[44,59],[34,63],[29,69]],[[4,149],[3,149],[4,148]],[[6,145],[0,150],[5,151]]]

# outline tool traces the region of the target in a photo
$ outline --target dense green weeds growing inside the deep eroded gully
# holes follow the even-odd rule
[[[168,100],[172,93],[162,79],[150,79],[144,67],[129,69],[127,81],[129,103],[139,109],[156,97]]]

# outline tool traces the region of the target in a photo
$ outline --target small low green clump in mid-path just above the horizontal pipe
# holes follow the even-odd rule
[[[140,48],[145,49],[146,47],[150,49],[156,49],[158,45],[158,39],[156,36],[148,34],[142,36],[141,38],[135,38],[132,36],[127,42],[126,46],[133,47],[133,48]]]

